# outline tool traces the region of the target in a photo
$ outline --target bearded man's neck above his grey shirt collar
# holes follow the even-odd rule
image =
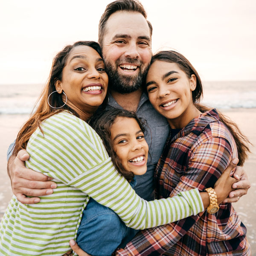
[[[142,89],[125,94],[111,90],[111,95],[116,100],[116,102],[125,110],[133,112],[137,111],[142,93]]]

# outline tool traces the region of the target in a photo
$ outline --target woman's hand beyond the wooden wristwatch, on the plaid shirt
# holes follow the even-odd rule
[[[238,180],[230,177],[230,174],[233,173],[233,169],[238,164],[238,158],[232,160],[232,163],[225,169],[225,171],[221,174],[221,177],[218,178],[214,185],[214,190],[217,195],[218,204],[221,204],[224,201],[231,191],[233,191],[233,183],[237,182]]]

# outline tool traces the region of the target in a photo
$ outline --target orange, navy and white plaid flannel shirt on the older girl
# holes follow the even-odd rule
[[[180,191],[214,187],[215,181],[237,157],[235,141],[215,110],[193,119],[167,140],[156,168],[157,198]],[[142,230],[116,255],[250,255],[246,228],[231,204],[171,224]]]

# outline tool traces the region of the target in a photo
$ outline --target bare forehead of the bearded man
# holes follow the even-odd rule
[[[107,21],[104,37],[126,34],[131,37],[147,36],[150,30],[145,17],[139,12],[118,11],[113,13]]]

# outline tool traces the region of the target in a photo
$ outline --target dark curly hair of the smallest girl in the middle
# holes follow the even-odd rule
[[[136,114],[134,112],[130,112],[124,109],[112,109],[108,111],[103,111],[101,113],[96,113],[90,118],[88,124],[97,132],[97,134],[99,134],[99,137],[101,137],[103,144],[109,156],[111,157],[116,169],[127,180],[132,180],[134,178],[134,173],[124,169],[121,161],[119,160],[119,157],[116,155],[116,152],[113,149],[113,141],[111,140],[111,127],[117,117],[128,117],[135,119],[140,126],[141,131],[145,133],[143,123],[136,116]]]

